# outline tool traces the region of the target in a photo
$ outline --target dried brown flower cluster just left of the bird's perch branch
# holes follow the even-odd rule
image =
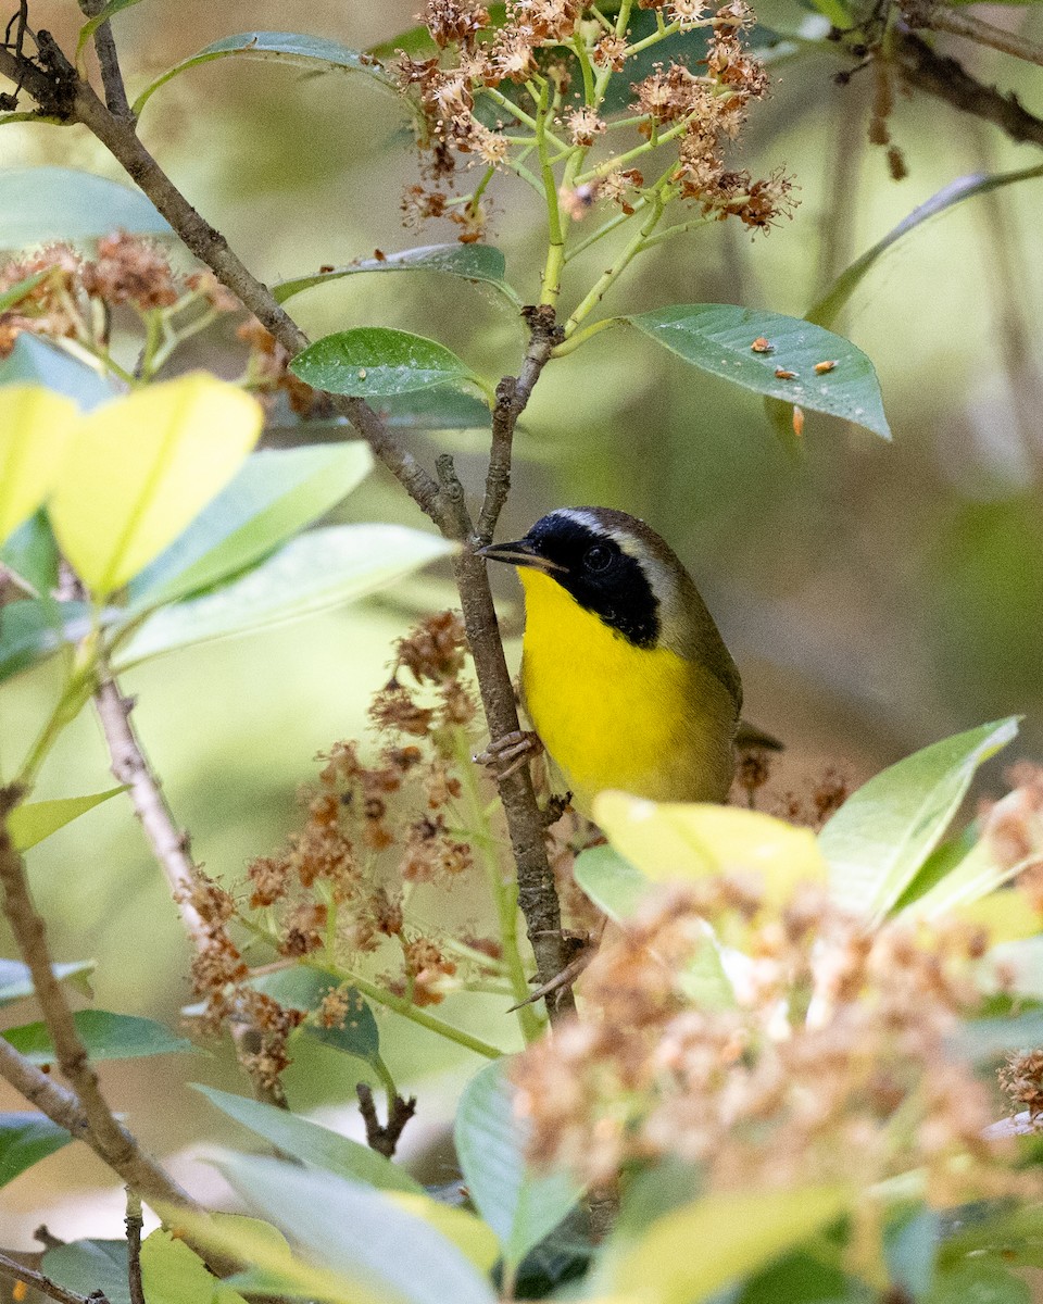
[[[465,974],[481,977],[495,965],[497,943],[469,938],[462,957],[407,910],[421,884],[445,889],[471,868],[454,773],[462,751],[469,755],[471,743],[462,739],[476,713],[465,665],[463,623],[454,612],[399,640],[392,677],[372,708],[382,743],[375,759],[364,760],[355,742],[336,743],[304,794],[302,827],[279,853],[250,863],[244,889],[233,896],[202,878],[197,883],[193,904],[210,945],[193,978],[206,1024],[213,1029],[248,1013],[262,1030],[254,1069],[265,1080],[288,1063],[286,1037],[304,1016],[250,987],[232,936],[237,923],[253,935],[259,925],[286,962],[309,957],[349,970],[365,961],[381,986],[416,1005],[437,1004]],[[335,990],[316,1017],[329,1028],[352,1015],[344,991]]]

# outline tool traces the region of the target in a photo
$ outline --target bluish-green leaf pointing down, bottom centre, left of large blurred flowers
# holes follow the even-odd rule
[[[516,1267],[575,1206],[581,1188],[565,1172],[537,1175],[525,1163],[525,1128],[514,1112],[503,1061],[480,1069],[464,1088],[454,1140],[476,1209]]]

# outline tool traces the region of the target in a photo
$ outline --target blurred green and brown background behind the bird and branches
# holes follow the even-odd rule
[[[416,0],[150,0],[120,16],[117,35],[133,95],[150,74],[232,31],[304,30],[364,48],[409,26],[415,8]],[[72,0],[37,0],[31,10],[35,26],[74,44],[82,20]],[[1039,39],[1043,10],[1029,10],[993,17]],[[953,51],[1043,112],[1038,69]],[[1031,146],[926,96],[900,96],[890,130],[909,176],[894,183],[883,150],[866,143],[871,86],[864,77],[836,86],[837,67],[811,55],[780,68],[742,150],[741,164],[755,175],[778,166],[795,175],[794,219],[767,239],[727,223],[660,246],[618,287],[610,310],[724,301],[799,316],[855,254],[945,184],[1038,162]],[[454,237],[448,224],[403,230],[400,193],[416,179],[416,160],[394,102],[365,78],[216,63],[156,95],[142,137],[266,280]],[[5,126],[0,167],[34,163],[119,176],[80,128]],[[520,183],[498,185],[489,239],[532,299],[540,214]],[[554,363],[525,413],[501,536],[515,537],[563,503],[622,507],[664,533],[739,661],[747,713],[787,743],[784,786],[799,788],[828,763],[858,778],[1012,712],[1026,717],[1017,754],[1043,751],[1040,198],[1036,180],[971,200],[919,230],[857,292],[837,329],[876,364],[893,445],[812,413],[806,456],[793,460],[756,398],[623,330]],[[575,292],[601,257],[578,261]],[[523,347],[503,301],[447,278],[352,278],[301,296],[295,310],[312,335],[366,323],[437,335],[493,376],[512,372]],[[206,338],[196,360],[220,369],[236,347],[232,330]],[[416,445],[430,463],[434,441]],[[448,446],[477,490],[481,441],[456,433]],[[422,524],[381,473],[345,503],[344,518]],[[447,592],[445,576],[413,582],[379,602],[185,651],[130,677],[141,733],[211,874],[241,875],[248,858],[283,838],[314,752],[360,733],[391,639],[417,608],[445,605]],[[516,597],[510,582],[505,596]],[[515,606],[515,626],[516,618]],[[5,772],[53,690],[48,670],[0,690]],[[107,782],[99,730],[85,713],[48,763],[40,794]],[[31,853],[30,867],[56,955],[106,960],[98,1004],[176,1022],[188,995],[186,944],[129,807],[113,801],[70,825]],[[489,1035],[502,1033],[503,1016],[480,998],[467,1017]],[[426,1034],[403,1033],[394,1016],[382,1030],[392,1069],[421,1097],[416,1144],[437,1127],[454,1074],[476,1065]],[[245,1089],[222,1055],[115,1065],[104,1076],[117,1106],[163,1153],[201,1134],[231,1136],[183,1081]],[[301,1108],[344,1099],[353,1082],[353,1065],[322,1050],[288,1077]],[[17,1107],[0,1097],[0,1108]],[[78,1149],[5,1189],[0,1241],[27,1244],[42,1210],[63,1236],[117,1232],[107,1219],[119,1200],[72,1209],[70,1175],[85,1191],[108,1185]],[[69,1208],[55,1214],[59,1200]]]

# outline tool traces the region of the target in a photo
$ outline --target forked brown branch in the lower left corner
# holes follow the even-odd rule
[[[7,818],[21,799],[17,788],[0,789],[0,887],[4,914],[33,975],[40,1011],[55,1043],[59,1067],[72,1091],[52,1082],[0,1038],[0,1074],[73,1137],[86,1141],[123,1180],[153,1200],[192,1205],[189,1196],[116,1121],[102,1095],[98,1074],[73,1022],[65,992],[55,978],[47,930],[33,905],[25,866],[8,833]]]

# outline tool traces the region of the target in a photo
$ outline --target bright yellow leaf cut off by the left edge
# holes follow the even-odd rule
[[[42,385],[0,387],[0,544],[47,498],[80,419]]]

